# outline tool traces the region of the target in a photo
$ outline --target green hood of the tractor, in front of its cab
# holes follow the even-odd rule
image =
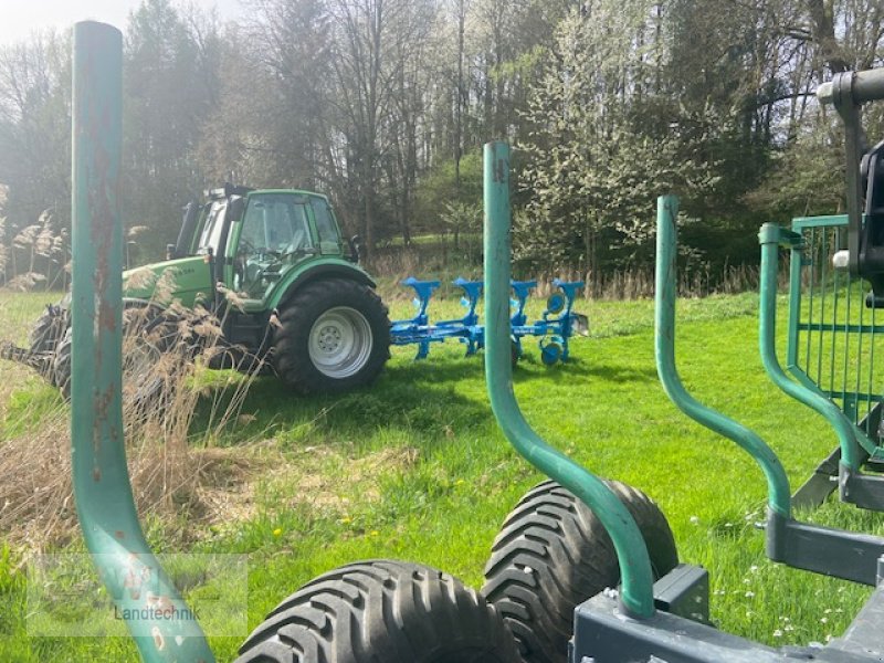
[[[190,308],[212,298],[212,275],[202,255],[167,260],[123,272],[123,296]]]

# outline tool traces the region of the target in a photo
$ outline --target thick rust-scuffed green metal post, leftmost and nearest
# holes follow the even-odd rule
[[[118,188],[123,35],[74,28],[72,471],[86,546],[148,662],[209,662],[192,612],[144,538],[123,436]],[[190,615],[191,619],[182,619]]]

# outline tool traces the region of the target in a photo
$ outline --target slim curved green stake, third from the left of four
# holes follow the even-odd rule
[[[661,196],[656,208],[656,284],[654,344],[656,371],[666,396],[691,419],[724,435],[743,448],[760,465],[767,478],[768,505],[779,515],[791,514],[789,480],[777,454],[745,425],[707,408],[682,385],[675,367],[675,284],[678,199]]]

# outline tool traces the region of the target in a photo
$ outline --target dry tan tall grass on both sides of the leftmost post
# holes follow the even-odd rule
[[[4,311],[2,304],[0,299],[2,336],[22,339],[28,320],[11,319],[9,307]],[[165,351],[155,361],[131,360],[144,356],[144,336],[127,334],[124,339],[125,440],[139,514],[160,516],[164,524],[170,524],[172,536],[192,537],[200,528],[176,528],[181,515],[190,522],[222,519],[215,511],[223,508],[223,504],[206,497],[219,485],[246,481],[250,467],[256,462],[240,449],[234,452],[212,448],[212,440],[238,423],[261,362],[250,366],[244,378],[231,378],[220,387],[215,381],[211,388],[200,388],[199,373],[204,361],[222,348],[217,344],[218,335],[209,334],[215,343],[210,343],[206,354],[194,358],[193,326],[217,327],[218,320],[204,313],[178,316],[177,320],[171,336],[168,326],[160,327],[166,335]],[[200,333],[207,334],[207,329]],[[0,417],[17,418],[13,423],[21,425],[14,428],[25,432],[0,441],[0,535],[31,551],[63,545],[77,528],[71,484],[70,408],[61,399],[52,402],[45,393],[42,401],[34,397],[32,404],[27,402],[27,394],[15,394],[22,382],[31,379],[30,369],[3,361],[2,373]],[[160,392],[144,398],[144,386],[156,381],[162,385]],[[13,398],[17,407],[11,412],[8,404]],[[194,439],[191,429],[198,403],[207,401],[209,423]]]

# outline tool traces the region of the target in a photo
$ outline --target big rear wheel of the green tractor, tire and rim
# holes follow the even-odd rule
[[[273,368],[301,393],[370,385],[390,358],[387,307],[370,287],[344,278],[308,283],[278,314]]]

